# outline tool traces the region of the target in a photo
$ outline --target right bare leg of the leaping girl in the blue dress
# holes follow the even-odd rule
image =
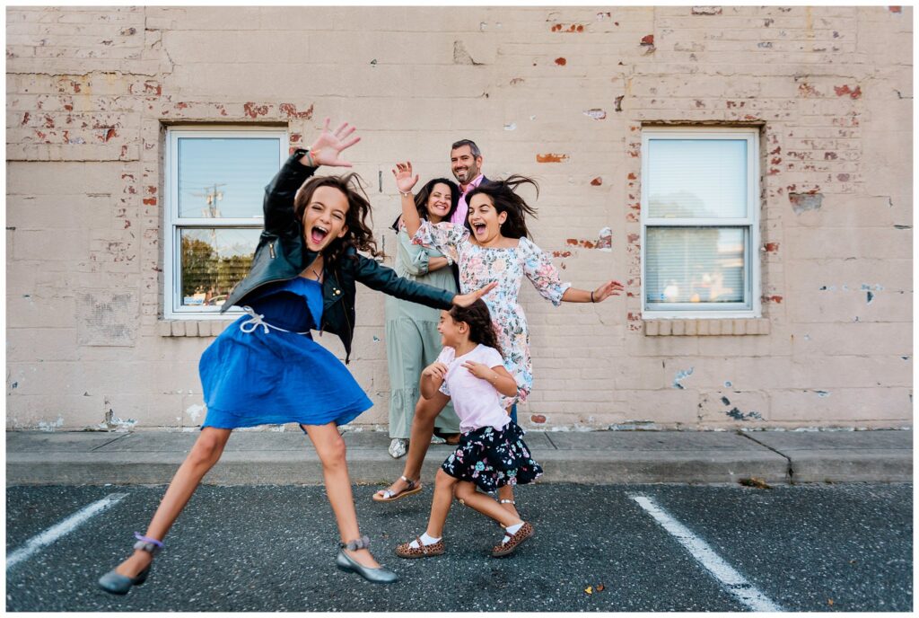
[[[345,459],[345,441],[338,433],[335,423],[327,425],[301,425],[310,436],[313,447],[319,454],[323,463],[323,477],[325,479],[325,494],[329,497],[329,504],[335,513],[335,523],[342,543],[355,541],[360,538],[357,528],[357,511],[354,508],[354,495],[351,493],[351,479],[347,474]],[[367,549],[357,551],[345,550],[363,566],[376,568],[380,566]]]

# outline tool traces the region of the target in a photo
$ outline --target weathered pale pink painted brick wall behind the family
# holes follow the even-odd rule
[[[7,7],[7,429],[197,426],[219,326],[161,317],[165,126],[271,123],[299,145],[325,116],[363,136],[349,156],[378,235],[393,162],[445,175],[470,137],[488,176],[539,178],[532,229],[563,278],[627,283],[560,308],[524,290],[525,426],[910,424],[912,15]],[[661,123],[759,128],[763,320],[642,321],[641,127]],[[370,426],[387,418],[382,306],[360,292]],[[721,334],[686,334],[703,329]]]

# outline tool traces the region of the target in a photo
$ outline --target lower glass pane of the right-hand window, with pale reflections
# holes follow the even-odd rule
[[[743,227],[649,227],[647,303],[743,303],[745,232]]]

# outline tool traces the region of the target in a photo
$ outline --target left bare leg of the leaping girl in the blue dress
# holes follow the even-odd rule
[[[147,526],[146,536],[163,540],[179,513],[185,509],[188,499],[195,493],[201,478],[208,474],[210,468],[220,460],[223,447],[230,439],[230,432],[231,429],[214,427],[201,429],[198,440],[195,441],[195,445],[191,447],[185,461],[179,466],[172,482],[166,488],[160,506],[153,514],[153,520]],[[117,566],[115,572],[135,578],[152,560],[153,555],[148,552],[141,549],[134,550],[134,554]]]

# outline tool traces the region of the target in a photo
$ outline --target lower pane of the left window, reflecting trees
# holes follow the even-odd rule
[[[183,307],[220,307],[252,264],[260,229],[179,230]]]

